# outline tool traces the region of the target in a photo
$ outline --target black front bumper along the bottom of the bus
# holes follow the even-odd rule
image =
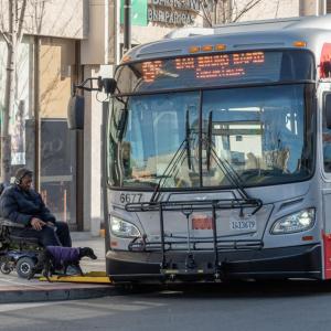
[[[183,252],[167,252],[162,267],[159,252],[108,250],[107,275],[114,281],[323,278],[320,244],[220,252],[217,268],[213,252],[192,252],[188,256]]]

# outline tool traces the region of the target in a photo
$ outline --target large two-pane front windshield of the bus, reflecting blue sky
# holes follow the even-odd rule
[[[297,83],[115,96],[109,184],[153,190],[163,178],[163,189],[233,186],[217,160],[245,186],[308,179],[312,95],[313,84]]]

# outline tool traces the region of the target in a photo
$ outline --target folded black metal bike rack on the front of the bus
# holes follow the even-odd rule
[[[215,267],[215,278],[220,278],[220,274],[222,273],[222,267],[224,261],[220,261],[218,252],[225,249],[261,249],[264,246],[263,241],[257,239],[222,239],[222,236],[217,236],[216,228],[216,211],[217,210],[233,210],[237,209],[241,211],[241,215],[243,215],[244,209],[253,207],[252,215],[256,214],[263,203],[258,199],[229,199],[229,200],[205,200],[205,201],[159,201],[159,202],[141,202],[141,203],[128,203],[125,209],[127,212],[159,212],[160,215],[160,242],[153,241],[148,242],[147,236],[143,235],[141,237],[136,237],[129,244],[130,250],[136,252],[161,252],[162,260],[161,260],[161,273],[171,274],[169,270],[169,266],[167,263],[167,252],[174,250],[173,245],[179,246],[181,244],[188,244],[188,248],[179,248],[178,252],[188,252],[186,256],[186,269],[184,274],[186,275],[190,269],[194,269],[194,258],[191,253],[196,250],[210,250],[210,248],[199,247],[201,244],[213,244],[214,252],[214,267]],[[212,212],[212,237],[204,238],[192,238],[190,237],[190,232],[188,233],[188,237],[185,236],[168,236],[164,233],[164,217],[163,212],[168,211],[179,211],[182,212],[186,218],[189,220],[190,215],[194,211],[209,211]],[[188,270],[189,269],[189,270]],[[200,270],[203,273],[202,270]],[[178,274],[178,270],[177,270]]]

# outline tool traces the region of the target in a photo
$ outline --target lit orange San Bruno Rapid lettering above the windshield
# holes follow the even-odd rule
[[[191,72],[196,79],[226,78],[246,75],[247,68],[260,66],[265,63],[264,52],[231,53],[177,57],[167,65],[162,60],[143,62],[141,65],[142,79],[154,82],[158,76],[177,77],[181,71]],[[170,71],[171,68],[171,71]]]

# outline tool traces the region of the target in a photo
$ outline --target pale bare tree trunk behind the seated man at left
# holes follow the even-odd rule
[[[4,29],[4,20],[0,26],[7,43],[7,76],[4,92],[4,109],[1,118],[1,175],[3,183],[10,182],[11,169],[11,136],[9,131],[10,114],[14,108],[15,76],[18,49],[23,38],[23,22],[28,0],[9,0],[8,2],[8,29]]]

